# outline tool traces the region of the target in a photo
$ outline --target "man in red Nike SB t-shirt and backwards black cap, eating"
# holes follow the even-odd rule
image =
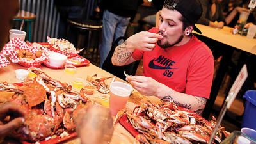
[[[188,4],[189,3],[189,4]],[[143,76],[127,81],[143,95],[200,114],[211,92],[214,58],[203,42],[191,34],[202,15],[198,0],[166,0],[160,13],[159,28],[136,33],[118,45],[113,65],[128,65],[143,58]]]

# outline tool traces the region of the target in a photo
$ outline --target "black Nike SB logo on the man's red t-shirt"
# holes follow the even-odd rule
[[[157,63],[157,65],[154,63]],[[163,75],[167,77],[172,77],[173,72],[170,69],[177,69],[177,68],[171,68],[170,66],[173,66],[175,61],[172,61],[164,56],[159,56],[156,60],[153,59],[148,63],[148,67],[152,69],[159,69],[159,70],[165,70]]]

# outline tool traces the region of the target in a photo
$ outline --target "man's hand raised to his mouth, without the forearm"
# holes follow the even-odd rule
[[[161,39],[163,39],[162,35],[141,31],[127,39],[127,48],[152,51],[156,47],[156,42]]]

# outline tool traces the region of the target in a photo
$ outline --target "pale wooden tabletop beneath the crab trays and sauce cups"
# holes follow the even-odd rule
[[[17,63],[10,63],[7,67],[0,68],[0,81],[6,81],[8,83],[20,83],[22,81],[15,78],[15,70],[16,69],[26,69],[26,67],[23,67]],[[99,67],[96,67],[95,65],[90,64],[89,66],[85,67],[77,67],[76,73],[73,74],[66,74],[65,69],[51,69],[47,68],[44,65],[41,65],[39,68],[44,70],[46,74],[48,74],[50,77],[54,79],[58,79],[61,82],[67,82],[68,84],[72,84],[72,81],[74,78],[79,77],[84,79],[86,81],[86,77],[88,75],[93,74],[99,74],[99,76],[111,76],[108,72],[105,70],[102,70]],[[119,79],[116,77],[115,81],[122,81],[122,79]],[[115,130],[113,133],[113,137],[110,143],[133,143],[134,137],[126,131],[122,125],[119,123],[115,125]],[[63,143],[80,143],[79,138],[73,138],[71,140],[64,141]]]

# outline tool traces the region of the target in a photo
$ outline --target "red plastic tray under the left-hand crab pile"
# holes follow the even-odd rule
[[[14,83],[18,86],[22,86],[23,84],[22,83]],[[65,140],[68,140],[70,138],[74,138],[75,136],[77,136],[77,133],[76,132],[72,132],[70,134],[68,134],[68,136],[64,136],[63,138],[61,138],[60,136],[57,136],[56,138],[51,138],[47,141],[45,140],[42,140],[40,141],[40,144],[55,144],[55,143],[60,143],[62,141],[65,141]],[[28,141],[21,141],[22,144],[31,144],[29,143]]]

